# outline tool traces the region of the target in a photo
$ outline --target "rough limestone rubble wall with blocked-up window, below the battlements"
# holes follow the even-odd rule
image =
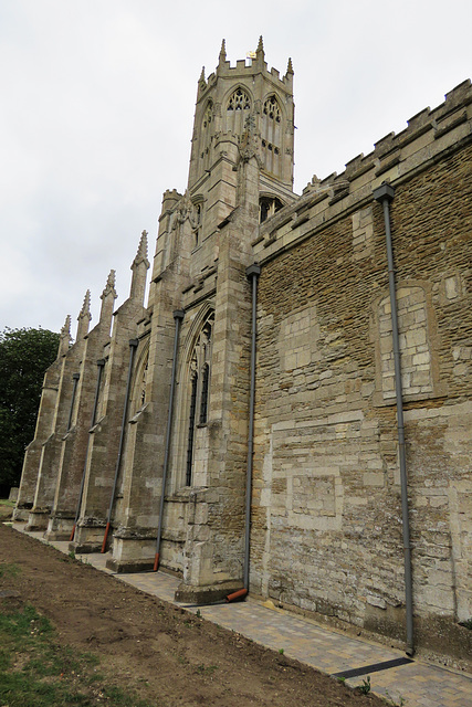
[[[469,144],[413,175],[390,205],[415,611],[438,650],[438,621],[472,612],[471,158]],[[262,267],[251,567],[264,597],[399,636],[384,232],[373,203]]]

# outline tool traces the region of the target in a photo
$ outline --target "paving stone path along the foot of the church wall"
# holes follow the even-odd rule
[[[24,526],[13,526],[23,531]],[[42,534],[30,532],[42,540]],[[69,552],[69,542],[52,542],[55,548]],[[99,570],[106,569],[106,555],[83,555],[83,559]],[[403,653],[380,644],[346,636],[333,629],[321,626],[314,621],[291,612],[271,608],[252,599],[234,604],[190,606],[178,604],[174,594],[179,580],[165,572],[140,572],[115,574],[126,582],[159,599],[185,606],[193,613],[197,610],[203,619],[235,631],[252,641],[275,651],[283,648],[285,655],[327,673],[356,671],[357,675],[346,677],[348,685],[361,685],[367,676],[374,693],[387,697],[396,705],[405,707],[472,707],[472,676],[451,669],[437,667],[418,659],[407,661]],[[390,667],[391,663],[396,664]],[[387,665],[381,665],[387,664]],[[360,673],[360,674],[359,674]],[[402,701],[403,700],[403,701]]]

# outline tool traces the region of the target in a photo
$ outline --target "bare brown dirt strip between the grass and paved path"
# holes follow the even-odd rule
[[[115,685],[159,707],[385,706],[4,525],[0,562],[20,570],[0,577],[0,591],[18,592],[61,642],[99,654]]]

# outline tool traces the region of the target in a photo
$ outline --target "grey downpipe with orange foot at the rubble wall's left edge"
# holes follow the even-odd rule
[[[248,433],[248,462],[245,475],[245,527],[244,527],[244,566],[243,589],[228,594],[227,601],[242,600],[249,592],[249,557],[251,535],[251,497],[252,497],[252,465],[254,452],[254,398],[255,398],[255,336],[258,333],[258,277],[261,266],[258,263],[250,265],[245,271],[252,285],[252,324],[251,324],[251,382],[249,394],[249,433]]]

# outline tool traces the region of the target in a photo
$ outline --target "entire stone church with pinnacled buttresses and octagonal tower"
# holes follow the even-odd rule
[[[198,82],[188,187],[45,373],[15,518],[177,598],[465,657],[472,88],[293,191],[293,68]],[[469,646],[469,647],[466,647]]]

